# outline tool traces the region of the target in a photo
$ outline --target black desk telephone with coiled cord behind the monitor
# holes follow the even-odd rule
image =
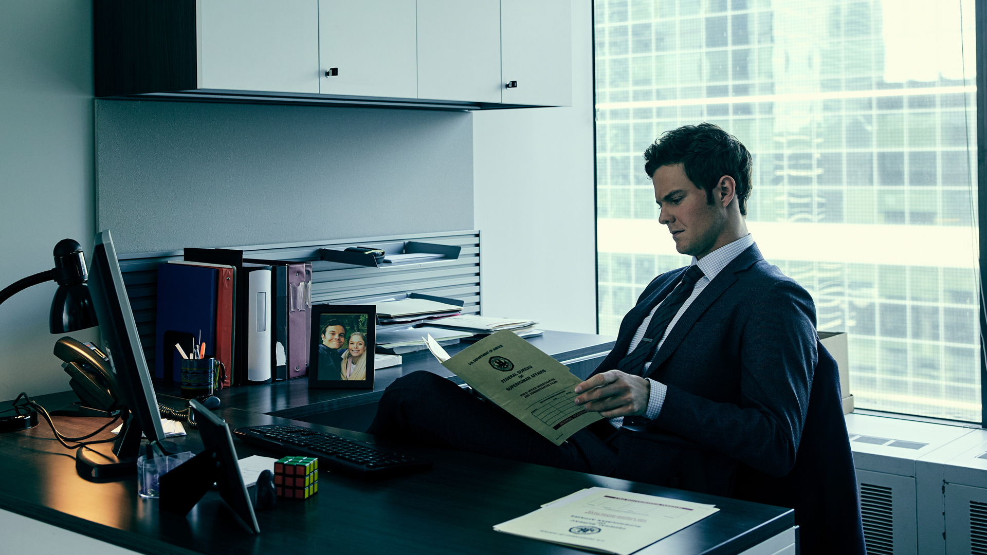
[[[79,396],[80,403],[63,407],[54,414],[61,416],[90,416],[113,417],[116,411],[123,408],[123,396],[116,376],[111,369],[110,358],[103,354],[95,345],[83,344],[70,337],[63,337],[55,343],[55,357],[65,362],[62,369],[71,379],[68,384]],[[211,397],[201,400],[207,408],[219,406],[219,399]],[[187,422],[192,428],[194,421],[190,420],[188,409],[177,411],[171,407],[158,404],[162,418]]]

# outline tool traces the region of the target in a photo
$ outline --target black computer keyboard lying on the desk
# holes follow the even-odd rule
[[[368,478],[384,478],[431,468],[431,461],[348,437],[300,426],[238,428],[241,439],[278,452],[317,456],[321,465]]]

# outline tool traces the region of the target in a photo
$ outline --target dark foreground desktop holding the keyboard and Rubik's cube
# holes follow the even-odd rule
[[[50,404],[62,402],[64,396]],[[218,413],[233,428],[288,422],[238,409],[224,408]],[[56,417],[61,432],[69,436],[82,435],[104,422]],[[373,440],[355,432],[328,430]],[[109,434],[97,437],[105,436]],[[178,441],[189,450],[201,449],[194,431]],[[239,440],[236,447],[241,457],[280,454]],[[156,501],[139,499],[135,476],[108,483],[80,478],[73,452],[62,448],[42,422],[30,431],[0,435],[0,509],[153,554],[583,553],[494,532],[492,526],[592,486],[712,503],[721,509],[652,544],[639,552],[642,554],[735,554],[794,525],[793,511],[788,509],[484,455],[400,448],[433,460],[434,468],[379,482],[324,469],[319,493],[313,498],[280,499],[277,509],[258,512],[262,532],[254,536],[240,526],[215,492],[206,494],[187,517],[182,517],[159,514]]]

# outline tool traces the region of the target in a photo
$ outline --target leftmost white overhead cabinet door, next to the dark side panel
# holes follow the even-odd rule
[[[198,88],[319,92],[318,0],[197,0]]]

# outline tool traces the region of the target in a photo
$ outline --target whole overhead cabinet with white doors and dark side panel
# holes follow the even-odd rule
[[[569,0],[95,0],[97,97],[569,106]]]

